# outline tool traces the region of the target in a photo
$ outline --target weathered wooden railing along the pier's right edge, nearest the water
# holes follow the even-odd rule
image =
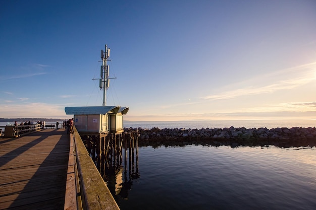
[[[64,209],[117,209],[119,206],[73,126]]]

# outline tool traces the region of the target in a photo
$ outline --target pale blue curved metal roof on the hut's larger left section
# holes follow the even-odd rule
[[[65,107],[66,114],[106,114],[118,113],[120,106],[73,106]],[[123,113],[122,113],[123,114]]]

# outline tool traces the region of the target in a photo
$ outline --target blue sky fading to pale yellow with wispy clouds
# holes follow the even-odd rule
[[[316,1],[1,1],[0,117],[316,119]]]

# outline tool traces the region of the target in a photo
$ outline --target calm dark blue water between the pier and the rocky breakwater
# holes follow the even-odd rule
[[[136,161],[123,161],[103,177],[112,180],[108,186],[122,210],[312,210],[315,152],[274,146],[140,147]]]

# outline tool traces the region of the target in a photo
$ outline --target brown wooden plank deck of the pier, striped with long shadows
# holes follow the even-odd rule
[[[64,209],[69,147],[63,128],[0,138],[0,209]]]

